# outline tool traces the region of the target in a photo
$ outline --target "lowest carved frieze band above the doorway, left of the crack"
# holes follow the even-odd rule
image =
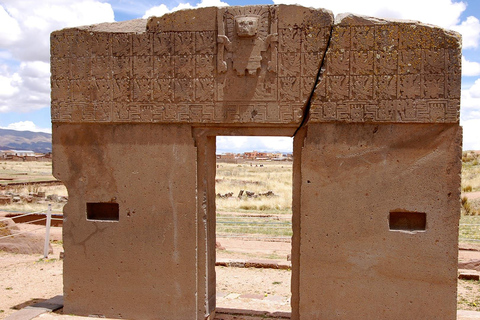
[[[303,106],[274,103],[54,103],[52,122],[299,124]]]

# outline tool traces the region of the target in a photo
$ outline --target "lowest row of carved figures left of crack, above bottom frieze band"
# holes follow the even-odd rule
[[[289,101],[301,103],[313,90],[313,77],[267,77],[249,99],[214,78],[52,80],[52,102]],[[237,93],[228,94],[236,90]],[[227,94],[225,94],[227,92]]]

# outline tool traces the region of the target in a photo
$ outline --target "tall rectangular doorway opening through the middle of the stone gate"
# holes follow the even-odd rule
[[[291,312],[293,138],[217,136],[216,307]]]

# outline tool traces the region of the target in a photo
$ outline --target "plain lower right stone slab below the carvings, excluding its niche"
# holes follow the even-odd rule
[[[455,319],[459,127],[310,123],[306,131],[299,319]],[[389,229],[399,209],[425,212],[426,229]]]

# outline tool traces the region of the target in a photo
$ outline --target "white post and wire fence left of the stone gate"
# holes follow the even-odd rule
[[[40,218],[36,218],[36,216],[41,216]],[[40,225],[38,228],[35,229],[28,229],[25,231],[21,230],[14,230],[10,228],[8,223],[2,223],[9,220],[26,220],[22,221],[23,224],[31,224],[31,225]],[[43,247],[43,257],[46,259],[48,258],[48,251],[50,249],[50,227],[52,225],[52,220],[62,220],[60,218],[52,218],[52,205],[49,204],[46,210],[43,211],[36,211],[36,212],[29,212],[20,215],[12,215],[11,217],[6,217],[0,219],[0,240],[6,238],[15,238],[19,235],[31,233],[34,231],[45,229],[45,242]],[[42,225],[40,222],[45,221],[45,224]]]

